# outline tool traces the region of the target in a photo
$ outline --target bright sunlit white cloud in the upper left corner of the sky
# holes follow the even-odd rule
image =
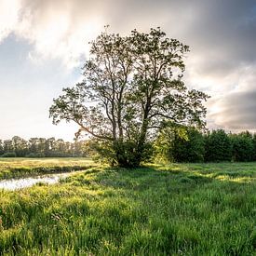
[[[88,41],[103,28],[101,15],[92,15],[95,5],[88,1],[2,1],[0,42],[9,34],[27,40],[33,61],[60,59],[68,67],[78,66]]]

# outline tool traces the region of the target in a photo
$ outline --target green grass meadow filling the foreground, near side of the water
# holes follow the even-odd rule
[[[0,254],[256,255],[255,179],[256,163],[94,167],[1,191]]]

